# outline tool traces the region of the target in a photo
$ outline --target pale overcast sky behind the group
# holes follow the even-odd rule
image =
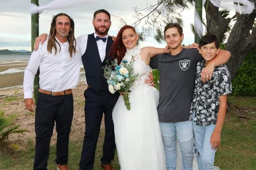
[[[52,0],[39,0],[39,5],[46,5]],[[30,0],[0,0],[0,50],[31,50],[31,14],[29,12]],[[148,0],[150,4],[156,4],[157,0]],[[94,11],[104,8],[111,15],[123,18],[127,24],[132,24],[136,19],[133,17],[133,7],[145,8],[146,0],[90,0],[84,6],[65,8],[62,10],[45,10],[39,16],[39,34],[48,33],[52,16],[64,12],[70,15],[75,22],[75,35],[90,34],[94,32],[92,17]],[[185,45],[192,44],[194,35],[190,30],[190,24],[194,22],[194,8],[191,7],[182,12],[184,21]],[[116,35],[123,24],[115,18],[111,18],[112,26],[110,35]],[[164,29],[164,28],[163,28]],[[159,45],[153,37],[147,37],[142,46],[165,46]]]

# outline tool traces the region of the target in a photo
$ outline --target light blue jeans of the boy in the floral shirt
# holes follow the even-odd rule
[[[198,126],[193,125],[194,137],[196,141],[198,170],[213,170],[216,149],[212,149],[210,137],[215,129],[215,125]]]

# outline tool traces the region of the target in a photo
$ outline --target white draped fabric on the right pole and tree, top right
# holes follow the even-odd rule
[[[203,6],[205,2],[206,0],[203,0]],[[210,2],[212,2],[214,6],[241,14],[250,14],[255,9],[254,3],[249,0],[210,0]],[[234,4],[234,2],[243,5]],[[203,35],[203,25],[196,9],[194,10],[194,28],[201,38]]]

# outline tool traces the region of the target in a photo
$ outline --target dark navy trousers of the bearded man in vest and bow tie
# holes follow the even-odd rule
[[[114,159],[116,145],[114,143],[114,124],[112,111],[119,94],[111,94],[108,90],[95,91],[87,88],[85,96],[85,136],[82,147],[79,170],[91,170],[94,167],[94,157],[101,120],[104,113],[105,139],[103,144],[102,164],[110,164]]]

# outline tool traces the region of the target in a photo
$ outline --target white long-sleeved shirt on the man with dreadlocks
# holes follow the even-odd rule
[[[40,89],[56,92],[74,89],[77,86],[82,64],[81,53],[77,48],[76,53],[73,52],[70,57],[68,41],[57,41],[61,48],[56,43],[56,55],[54,48],[52,53],[47,51],[47,41],[40,44],[37,51],[33,51],[24,73],[24,98],[33,97],[33,82],[38,67]]]

